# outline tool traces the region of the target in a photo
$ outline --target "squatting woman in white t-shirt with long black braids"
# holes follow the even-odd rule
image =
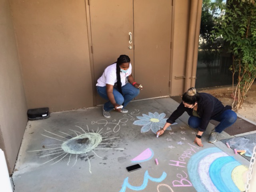
[[[132,65],[127,55],[120,55],[117,62],[108,66],[96,84],[98,94],[108,100],[103,105],[103,116],[110,118],[110,111],[127,113],[127,104],[140,93],[142,86],[132,77]],[[123,105],[123,108],[121,108]]]

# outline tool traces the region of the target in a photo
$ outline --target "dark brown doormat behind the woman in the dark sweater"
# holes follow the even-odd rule
[[[181,96],[171,96],[170,98],[172,98],[178,103],[182,102]],[[219,124],[219,122],[215,120],[210,120],[210,123],[212,123],[214,126],[217,126]],[[230,135],[236,135],[236,134],[246,133],[246,132],[255,131],[255,130],[256,130],[256,125],[251,124],[250,122],[237,117],[236,122],[232,126],[226,128],[224,131]]]

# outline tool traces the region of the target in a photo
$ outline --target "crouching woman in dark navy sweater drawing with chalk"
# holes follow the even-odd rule
[[[166,124],[156,134],[163,134],[168,126],[173,124],[185,111],[190,118],[188,124],[192,128],[197,128],[198,133],[194,140],[198,146],[203,147],[202,134],[206,130],[210,120],[220,122],[210,133],[208,142],[216,142],[217,134],[236,122],[236,113],[231,110],[231,106],[226,106],[214,96],[208,93],[198,93],[194,87],[190,88],[182,96],[182,102],[178,108],[166,120]]]

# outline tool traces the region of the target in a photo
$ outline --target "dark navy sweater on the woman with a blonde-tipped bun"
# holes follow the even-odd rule
[[[199,131],[205,131],[209,124],[210,119],[216,116],[218,113],[224,110],[224,105],[208,93],[199,93],[199,100],[197,101],[197,112],[201,117],[202,121],[198,127]],[[226,107],[225,107],[226,108]],[[228,109],[231,109],[228,108]],[[173,124],[177,118],[179,118],[184,112],[187,112],[189,116],[193,116],[193,109],[187,108],[181,102],[178,108],[171,114],[171,116],[166,120],[166,122]]]

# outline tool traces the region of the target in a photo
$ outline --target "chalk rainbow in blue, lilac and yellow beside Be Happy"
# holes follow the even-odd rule
[[[219,148],[207,148],[194,154],[188,162],[188,175],[198,192],[244,191],[242,176],[248,168]]]

